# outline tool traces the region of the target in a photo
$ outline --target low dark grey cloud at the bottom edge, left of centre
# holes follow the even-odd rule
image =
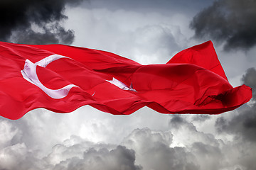
[[[96,150],[88,149],[83,157],[72,157],[56,164],[54,169],[106,169],[106,170],[140,170],[141,166],[134,164],[135,153],[132,149],[117,146],[115,149],[108,150],[102,148]]]

